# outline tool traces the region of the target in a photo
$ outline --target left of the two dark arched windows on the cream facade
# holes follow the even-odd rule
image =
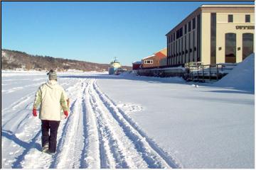
[[[225,34],[225,62],[235,63],[236,57],[236,34]]]

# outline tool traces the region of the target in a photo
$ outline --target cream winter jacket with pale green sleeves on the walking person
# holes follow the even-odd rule
[[[68,111],[67,95],[62,86],[55,80],[49,80],[42,84],[36,91],[33,108],[40,105],[39,118],[41,120],[61,119],[61,109]]]

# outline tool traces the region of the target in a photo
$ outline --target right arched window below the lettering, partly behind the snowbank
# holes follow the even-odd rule
[[[248,55],[253,52],[253,34],[243,33],[242,34],[242,60],[245,60]]]

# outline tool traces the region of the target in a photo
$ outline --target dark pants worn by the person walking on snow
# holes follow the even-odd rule
[[[42,120],[42,147],[48,143],[50,152],[56,152],[59,125],[60,121]]]

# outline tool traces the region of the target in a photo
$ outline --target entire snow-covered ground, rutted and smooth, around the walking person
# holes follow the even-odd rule
[[[254,56],[248,60],[254,63]],[[254,73],[254,64],[241,64]],[[71,113],[50,156],[41,153],[41,120],[31,113],[46,73],[2,72],[1,167],[254,168],[254,74],[234,77],[195,84],[178,77],[58,73]]]

